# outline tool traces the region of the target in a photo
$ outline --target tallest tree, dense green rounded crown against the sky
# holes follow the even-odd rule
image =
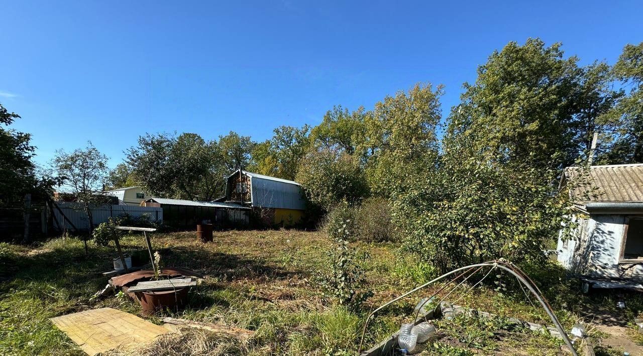
[[[498,162],[556,169],[572,164],[581,75],[575,56],[563,58],[561,44],[510,42],[478,67],[473,85],[464,84],[462,103],[448,119],[446,149],[466,142]]]

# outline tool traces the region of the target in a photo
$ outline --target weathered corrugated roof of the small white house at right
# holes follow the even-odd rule
[[[564,179],[577,176],[578,167],[565,168]],[[596,197],[587,201],[643,201],[643,164],[592,165],[590,181],[596,187]],[[582,196],[587,187],[575,187],[570,194]]]

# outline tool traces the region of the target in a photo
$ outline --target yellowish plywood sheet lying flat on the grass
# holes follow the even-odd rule
[[[101,308],[57,316],[51,322],[89,355],[121,345],[146,344],[169,332],[138,316],[112,308]]]

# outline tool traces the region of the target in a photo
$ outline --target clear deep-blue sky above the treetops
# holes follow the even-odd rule
[[[444,114],[511,40],[581,63],[643,40],[643,1],[0,0],[0,102],[39,163],[87,140],[116,165],[145,132],[255,140],[442,83]]]

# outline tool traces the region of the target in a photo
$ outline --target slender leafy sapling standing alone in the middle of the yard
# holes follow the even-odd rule
[[[321,273],[321,286],[338,304],[358,309],[372,292],[359,291],[365,283],[358,254],[350,248],[354,235],[354,208],[342,202],[327,217],[325,231],[334,241],[329,251],[329,270]]]

